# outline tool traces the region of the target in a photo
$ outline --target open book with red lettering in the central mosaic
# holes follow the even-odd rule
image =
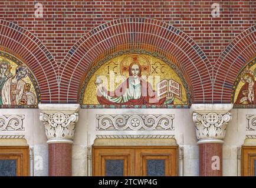
[[[156,84],[157,98],[162,99],[168,92],[172,92],[175,98],[182,100],[181,87],[175,80],[162,80]]]

